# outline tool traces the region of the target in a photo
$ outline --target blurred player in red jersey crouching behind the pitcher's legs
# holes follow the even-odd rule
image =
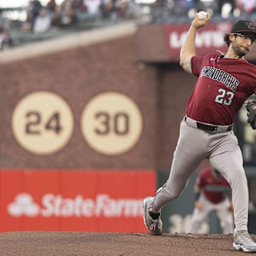
[[[216,211],[224,234],[233,233],[233,205],[230,200],[230,186],[217,169],[210,166],[203,169],[194,186],[195,208],[187,233],[198,233],[206,217]]]

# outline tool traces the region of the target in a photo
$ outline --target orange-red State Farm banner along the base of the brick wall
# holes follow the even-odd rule
[[[0,232],[146,232],[142,200],[155,189],[151,170],[1,170]]]

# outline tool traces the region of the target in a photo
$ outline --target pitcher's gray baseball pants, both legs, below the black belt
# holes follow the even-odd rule
[[[216,132],[206,132],[196,127],[196,121],[186,117],[181,121],[180,134],[169,178],[156,191],[152,210],[158,213],[169,201],[177,198],[203,159],[220,171],[232,190],[235,230],[247,230],[248,187],[242,166],[242,152],[233,131],[220,126]]]

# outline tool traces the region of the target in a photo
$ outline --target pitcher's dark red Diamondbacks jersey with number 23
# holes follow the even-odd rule
[[[211,53],[191,58],[198,80],[186,114],[198,122],[232,124],[243,102],[256,92],[256,66],[244,59]]]

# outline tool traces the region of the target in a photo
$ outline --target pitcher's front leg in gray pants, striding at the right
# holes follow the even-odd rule
[[[248,187],[245,170],[242,167],[242,153],[239,146],[233,151],[210,158],[210,163],[219,169],[223,177],[230,183],[234,208],[235,232],[247,230],[248,221]]]

